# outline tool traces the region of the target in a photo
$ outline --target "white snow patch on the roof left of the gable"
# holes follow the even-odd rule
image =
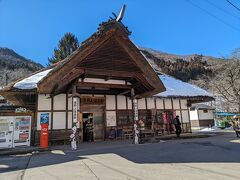
[[[45,76],[47,76],[51,70],[52,69],[47,69],[32,76],[29,76],[14,84],[13,87],[17,89],[35,89],[37,88],[38,82],[41,81]]]

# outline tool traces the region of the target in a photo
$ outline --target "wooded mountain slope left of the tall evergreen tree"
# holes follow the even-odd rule
[[[41,64],[26,59],[11,49],[0,47],[0,87],[41,68]]]

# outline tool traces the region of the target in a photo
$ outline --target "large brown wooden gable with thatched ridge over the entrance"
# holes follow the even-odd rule
[[[164,91],[162,82],[139,49],[130,41],[129,34],[117,21],[103,23],[97,33],[83,42],[70,57],[56,64],[49,75],[39,82],[38,92],[57,95],[66,92],[73,83],[79,94],[122,93],[130,97],[130,89],[134,88],[136,95],[146,97]],[[106,81],[118,79],[129,84],[79,81],[85,78],[103,78]]]

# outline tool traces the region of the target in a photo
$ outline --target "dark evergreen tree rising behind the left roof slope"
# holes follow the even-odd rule
[[[60,39],[58,48],[54,49],[52,58],[48,58],[48,65],[54,64],[65,59],[79,47],[77,37],[68,32]]]

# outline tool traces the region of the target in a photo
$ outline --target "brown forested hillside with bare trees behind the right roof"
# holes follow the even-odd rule
[[[240,49],[229,59],[203,55],[180,56],[141,48],[150,64],[165,73],[195,84],[217,97],[218,111],[240,112]]]

